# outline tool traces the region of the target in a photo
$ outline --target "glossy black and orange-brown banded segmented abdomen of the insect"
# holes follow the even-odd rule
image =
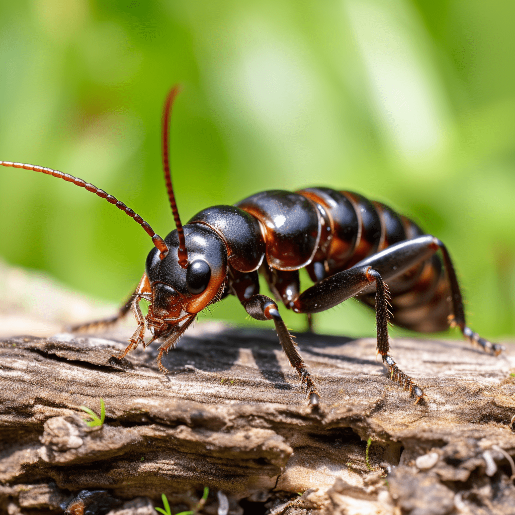
[[[286,305],[298,294],[296,270],[305,267],[318,282],[389,245],[424,234],[381,202],[325,187],[261,192],[236,206],[261,222],[267,280]],[[448,328],[450,290],[438,255],[388,286],[394,324],[422,332]],[[374,293],[358,299],[374,306]]]

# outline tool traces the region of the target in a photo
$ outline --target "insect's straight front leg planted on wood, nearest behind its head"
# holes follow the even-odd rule
[[[297,370],[301,384],[305,386],[306,395],[312,406],[317,406],[320,402],[320,396],[317,392],[317,387],[310,372],[307,370],[305,363],[302,360],[297,345],[291,338],[286,324],[284,323],[277,304],[270,298],[264,295],[253,295],[244,303],[247,313],[256,320],[273,320],[276,325],[277,335],[279,341],[286,354],[292,367]]]

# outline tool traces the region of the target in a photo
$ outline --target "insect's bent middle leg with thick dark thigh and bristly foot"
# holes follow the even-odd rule
[[[390,350],[388,340],[388,290],[381,274],[370,265],[355,265],[348,270],[335,273],[323,279],[311,288],[305,290],[295,301],[294,311],[297,313],[317,313],[327,310],[345,300],[357,295],[371,283],[375,282],[375,320],[377,331],[377,352],[383,358],[383,364],[388,368],[393,381],[399,381],[404,388],[417,399],[415,404],[424,396],[422,388],[405,374],[388,355]]]

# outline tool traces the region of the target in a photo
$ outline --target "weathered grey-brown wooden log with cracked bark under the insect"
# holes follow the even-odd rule
[[[307,406],[273,331],[185,336],[163,360],[167,376],[153,362],[156,347],[113,358],[122,339],[2,340],[0,511],[30,509],[27,491],[42,490],[53,501],[39,512],[57,510],[83,489],[156,503],[165,493],[185,509],[208,486],[211,513],[218,490],[232,513],[242,499],[290,514],[353,505],[357,513],[515,512],[499,450],[515,455],[510,346],[493,357],[462,341],[394,340],[393,357],[427,394],[414,405],[374,358],[373,339],[300,334],[297,342],[323,396],[319,410]],[[90,428],[80,406],[99,413],[100,398],[106,422]],[[416,461],[427,453],[435,454],[425,465]]]

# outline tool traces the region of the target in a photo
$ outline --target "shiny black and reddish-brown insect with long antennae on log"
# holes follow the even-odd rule
[[[112,324],[132,309],[138,328],[125,351],[116,357],[124,357],[140,344],[146,348],[160,340],[157,365],[167,373],[161,364],[163,354],[176,346],[197,314],[209,304],[234,295],[251,317],[273,320],[280,344],[312,406],[319,404],[320,395],[279,314],[279,302],[308,317],[351,297],[374,307],[377,353],[391,379],[408,388],[415,403],[424,397],[422,388],[389,354],[390,314],[400,327],[434,332],[457,325],[483,350],[499,354],[504,349],[467,327],[456,273],[443,243],[385,204],[357,193],[326,187],[295,193],[265,191],[234,205],[204,209],[183,226],[168,156],[169,120],[177,93],[176,86],[163,107],[163,169],[176,225],[164,239],[140,215],[93,184],[50,168],[0,161],[2,166],[73,182],[105,198],[140,224],[152,239],[154,248],[147,256],[145,273],[118,314],[74,330]],[[303,292],[301,268],[314,282]],[[260,294],[258,272],[276,300]],[[145,317],[141,300],[149,303]],[[145,341],[146,329],[152,334],[149,341]]]

